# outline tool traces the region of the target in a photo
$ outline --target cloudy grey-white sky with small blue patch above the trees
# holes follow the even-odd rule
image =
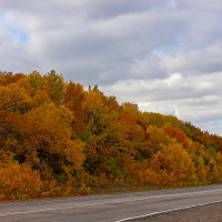
[[[222,135],[221,0],[0,0],[0,70],[98,84]]]

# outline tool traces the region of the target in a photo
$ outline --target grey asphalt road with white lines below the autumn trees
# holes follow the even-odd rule
[[[222,201],[222,185],[0,202],[0,221],[119,222],[131,216],[218,201]]]

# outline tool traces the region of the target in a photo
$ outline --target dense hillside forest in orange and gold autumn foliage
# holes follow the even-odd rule
[[[0,200],[222,182],[222,138],[61,74],[0,72]]]

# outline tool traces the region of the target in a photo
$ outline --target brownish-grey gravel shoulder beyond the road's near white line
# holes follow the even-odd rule
[[[221,222],[222,202],[180,210],[143,219],[131,220],[129,222]]]

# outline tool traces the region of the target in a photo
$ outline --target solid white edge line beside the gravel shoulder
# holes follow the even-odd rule
[[[148,213],[148,214],[143,214],[143,215],[124,218],[124,219],[121,219],[121,220],[118,220],[118,221],[114,221],[114,222],[125,222],[125,221],[130,221],[130,220],[149,218],[149,216],[152,216],[152,215],[158,215],[158,214],[163,214],[163,213],[169,213],[169,212],[174,212],[174,211],[180,211],[180,210],[186,210],[186,209],[196,208],[196,206],[210,205],[210,204],[213,204],[213,203],[221,203],[221,202],[222,202],[222,200],[219,200],[219,201],[201,203],[201,204],[196,204],[196,205],[188,205],[188,206],[170,209],[170,210],[165,210],[165,211],[157,211],[157,212],[152,212],[152,213]]]

